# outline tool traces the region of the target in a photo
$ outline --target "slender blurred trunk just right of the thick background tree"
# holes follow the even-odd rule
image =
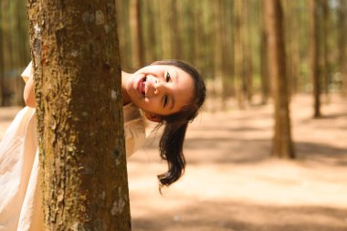
[[[321,81],[318,68],[319,35],[317,23],[317,1],[310,0],[310,77],[313,83],[314,118],[321,117]]]

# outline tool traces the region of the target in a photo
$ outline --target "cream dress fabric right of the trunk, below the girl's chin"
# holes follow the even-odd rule
[[[125,151],[127,158],[142,148],[146,141],[144,123],[141,120],[131,121],[124,124]]]

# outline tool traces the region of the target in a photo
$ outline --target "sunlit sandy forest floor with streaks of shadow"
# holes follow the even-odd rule
[[[269,157],[271,105],[234,105],[207,101],[187,133],[184,176],[163,195],[154,134],[130,158],[132,231],[346,231],[347,100],[331,97],[312,120],[310,96],[293,97],[296,160]],[[0,108],[0,137],[16,111]]]

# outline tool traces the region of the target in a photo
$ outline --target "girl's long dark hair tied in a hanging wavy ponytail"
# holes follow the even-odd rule
[[[170,65],[188,73],[194,80],[194,94],[190,104],[174,114],[161,116],[164,126],[163,135],[159,142],[160,156],[168,163],[168,171],[158,175],[160,187],[169,186],[177,181],[184,173],[184,137],[188,123],[193,121],[205,101],[205,82],[200,73],[192,65],[182,60],[169,59],[153,62],[151,65]]]

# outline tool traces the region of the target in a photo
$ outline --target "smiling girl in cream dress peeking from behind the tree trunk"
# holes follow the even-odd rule
[[[0,231],[43,230],[31,64],[22,77],[27,107],[16,115],[0,143]],[[173,184],[184,173],[185,131],[204,103],[204,79],[183,61],[162,60],[133,74],[122,72],[121,89],[127,157],[145,141],[143,114],[164,126],[159,150],[168,171],[158,179],[161,186]]]

